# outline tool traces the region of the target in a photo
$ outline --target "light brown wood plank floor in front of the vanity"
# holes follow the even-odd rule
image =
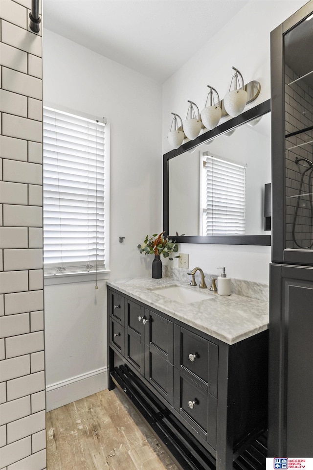
[[[47,470],[178,470],[117,390],[47,413]]]

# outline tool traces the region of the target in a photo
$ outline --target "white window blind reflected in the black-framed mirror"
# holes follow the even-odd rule
[[[246,231],[246,167],[204,156],[202,235],[243,235]]]

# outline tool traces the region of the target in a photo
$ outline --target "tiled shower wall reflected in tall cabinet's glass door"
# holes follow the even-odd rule
[[[289,67],[285,69],[286,134],[313,125],[313,89]],[[293,83],[292,83],[293,82]],[[295,158],[313,160],[313,130],[286,139],[286,248],[299,248],[293,241],[292,226],[300,190],[301,174],[308,167],[305,162],[295,163]],[[313,219],[310,207],[308,174],[303,179],[295,225],[295,239],[301,247],[313,241]]]

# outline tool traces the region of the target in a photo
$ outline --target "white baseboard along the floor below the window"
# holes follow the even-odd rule
[[[46,386],[46,411],[67,405],[108,388],[108,368],[71,377]]]

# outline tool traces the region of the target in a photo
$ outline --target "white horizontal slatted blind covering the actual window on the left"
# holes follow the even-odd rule
[[[44,107],[45,274],[105,269],[105,124]]]

